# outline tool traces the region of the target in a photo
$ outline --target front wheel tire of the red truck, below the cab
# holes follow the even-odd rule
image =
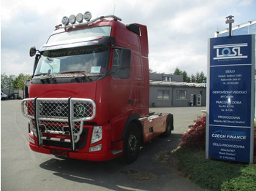
[[[131,122],[124,134],[124,162],[132,163],[140,153],[140,130],[138,125]]]

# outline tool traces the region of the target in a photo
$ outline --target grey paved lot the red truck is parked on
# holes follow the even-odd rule
[[[138,160],[127,165],[120,159],[94,163],[32,152],[20,102],[1,101],[1,190],[201,190],[179,176],[174,165],[163,165],[167,159],[161,156],[178,146],[205,107],[152,108],[173,113],[175,130],[170,138],[146,144]]]

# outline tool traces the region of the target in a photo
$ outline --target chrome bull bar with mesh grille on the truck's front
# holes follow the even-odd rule
[[[21,102],[21,111],[36,132],[38,147],[42,146],[42,140],[63,141],[69,142],[75,151],[83,122],[94,119],[96,104],[86,98],[26,98]],[[44,134],[65,135],[69,139]]]

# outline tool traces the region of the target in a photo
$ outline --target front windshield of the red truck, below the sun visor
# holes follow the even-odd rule
[[[108,45],[76,47],[43,52],[34,76],[45,74],[83,73],[87,76],[105,74],[109,58]]]

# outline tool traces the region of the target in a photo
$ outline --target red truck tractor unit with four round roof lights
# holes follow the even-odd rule
[[[173,130],[173,114],[149,112],[146,26],[115,15],[63,17],[35,55],[22,101],[35,152],[132,163],[140,145]]]

